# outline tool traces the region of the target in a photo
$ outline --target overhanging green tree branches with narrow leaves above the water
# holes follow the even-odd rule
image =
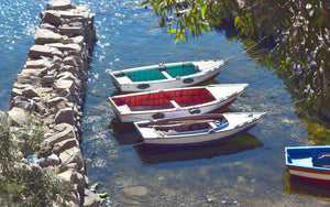
[[[188,40],[209,33],[221,20],[232,19],[238,37],[276,39],[262,65],[278,64],[279,70],[294,75],[299,84],[311,88],[310,108],[324,113],[330,107],[330,2],[329,0],[144,0],[151,6],[163,30]],[[302,78],[302,81],[301,81]]]

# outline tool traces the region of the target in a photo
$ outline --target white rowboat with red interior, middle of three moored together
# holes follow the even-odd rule
[[[110,97],[121,122],[204,115],[231,105],[249,84],[169,88]]]

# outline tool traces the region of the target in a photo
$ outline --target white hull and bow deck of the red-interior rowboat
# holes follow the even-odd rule
[[[194,105],[188,107],[179,107],[175,105],[170,109],[158,109],[158,110],[139,110],[132,111],[127,105],[117,106],[110,98],[111,107],[117,117],[122,122],[135,122],[142,120],[154,120],[155,115],[163,115],[165,118],[175,117],[187,117],[194,115],[204,115],[211,112],[218,108],[226,107],[233,102],[246,88],[248,84],[223,84],[223,85],[211,85],[207,86],[208,90],[215,96],[215,100],[201,105]],[[122,95],[131,96],[131,95]],[[121,97],[121,96],[116,96]],[[198,113],[191,115],[191,110],[199,111]]]

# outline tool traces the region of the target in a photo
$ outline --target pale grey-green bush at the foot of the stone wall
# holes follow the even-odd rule
[[[69,199],[68,185],[55,176],[56,168],[22,162],[26,153],[36,150],[42,138],[41,122],[33,121],[32,117],[25,127],[13,130],[7,116],[0,115],[1,206],[51,206],[53,203],[65,206]]]

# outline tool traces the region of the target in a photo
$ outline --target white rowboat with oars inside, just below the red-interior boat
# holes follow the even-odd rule
[[[260,122],[266,112],[227,112],[134,122],[148,145],[185,146],[216,142]]]

